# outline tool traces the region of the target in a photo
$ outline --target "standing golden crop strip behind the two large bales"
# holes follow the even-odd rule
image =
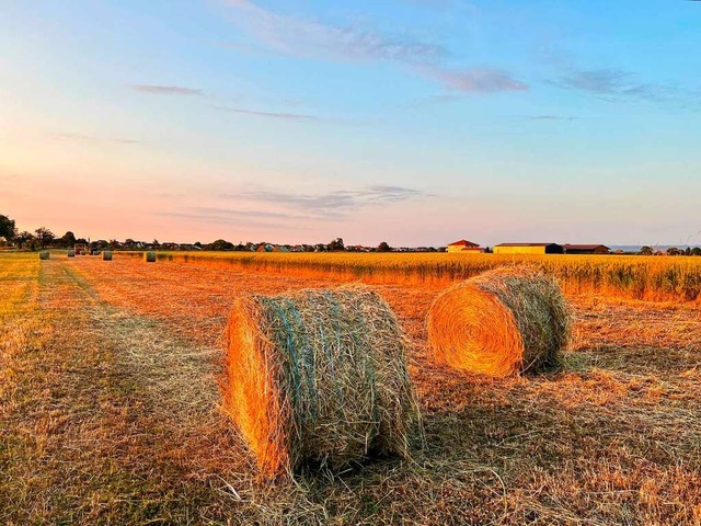
[[[142,252],[126,252],[142,258]],[[159,252],[159,261],[366,283],[447,285],[486,270],[529,264],[554,275],[566,293],[654,301],[701,301],[701,258],[446,253]]]

